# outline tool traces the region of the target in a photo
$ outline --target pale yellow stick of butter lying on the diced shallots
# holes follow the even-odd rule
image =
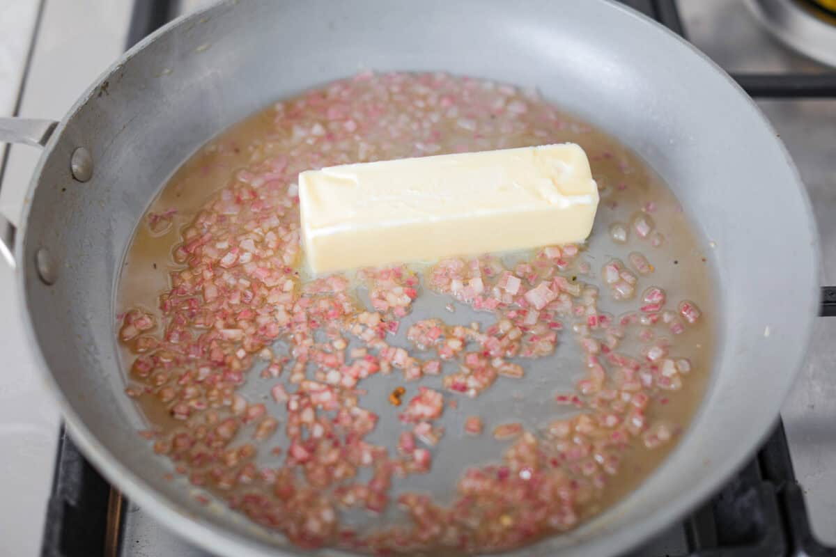
[[[314,273],[584,241],[598,200],[577,144],[299,174],[303,247]]]

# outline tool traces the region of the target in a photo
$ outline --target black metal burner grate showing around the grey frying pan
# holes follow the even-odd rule
[[[685,36],[672,0],[622,0]],[[128,46],[171,17],[171,0],[135,0]],[[836,72],[733,74],[752,97],[836,99]],[[822,315],[836,315],[836,287],[823,289]],[[126,501],[62,431],[48,502],[42,557],[120,554]],[[682,522],[686,553],[640,550],[641,557],[836,557],[810,529],[781,423],[752,459],[713,499]]]

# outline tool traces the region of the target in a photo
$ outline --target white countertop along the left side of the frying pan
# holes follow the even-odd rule
[[[125,48],[131,0],[0,2],[0,116],[14,114],[38,8],[43,9],[19,114],[61,119]],[[39,150],[11,149],[0,210],[18,220]],[[53,478],[59,413],[35,367],[18,308],[14,271],[0,259],[0,554],[40,553]]]

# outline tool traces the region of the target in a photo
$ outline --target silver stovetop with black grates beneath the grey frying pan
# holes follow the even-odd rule
[[[624,0],[684,34],[756,99],[808,187],[822,235],[823,284],[834,284],[836,70],[777,43],[747,2],[754,0]],[[135,0],[129,43],[207,3]],[[625,557],[836,555],[836,319],[819,319],[816,329],[782,423],[757,456],[713,499]],[[209,555],[122,498],[62,433],[43,555],[95,554]]]

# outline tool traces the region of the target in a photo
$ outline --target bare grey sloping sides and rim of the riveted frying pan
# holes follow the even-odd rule
[[[84,453],[195,544],[297,551],[164,479],[168,463],[134,433],[142,422],[124,393],[115,287],[140,216],[199,145],[359,68],[536,86],[635,149],[716,246],[719,342],[681,442],[614,508],[517,553],[619,553],[711,494],[770,430],[803,362],[818,305],[813,215],[787,151],[742,89],[665,28],[603,0],[231,0],[136,45],[59,124],[3,120],[0,139],[44,146],[7,255],[40,367]]]

